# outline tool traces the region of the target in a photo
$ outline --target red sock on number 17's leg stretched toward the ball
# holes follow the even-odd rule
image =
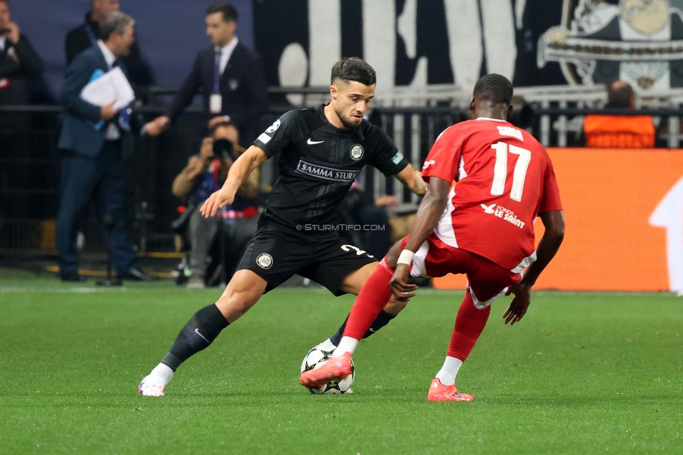
[[[355,297],[355,303],[351,308],[351,314],[348,315],[346,327],[344,328],[344,337],[352,337],[361,339],[367,329],[372,325],[379,311],[386,307],[387,302],[391,298],[391,290],[389,289],[389,281],[393,276],[393,272],[379,265],[377,269],[372,272],[365,284],[363,285],[358,297]]]

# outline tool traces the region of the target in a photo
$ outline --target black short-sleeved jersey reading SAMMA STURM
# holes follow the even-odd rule
[[[363,166],[390,175],[408,165],[378,127],[362,120],[355,130],[340,130],[325,118],[324,107],[289,111],[254,141],[268,158],[282,151],[280,176],[260,225],[277,223],[296,230],[314,225],[318,235],[323,234],[321,230],[330,229],[324,226],[339,223],[339,204]]]

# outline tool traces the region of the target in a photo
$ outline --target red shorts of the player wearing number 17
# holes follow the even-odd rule
[[[408,236],[401,241],[401,248],[405,247],[407,241]],[[449,273],[467,275],[467,288],[472,293],[474,305],[480,309],[488,307],[493,300],[507,292],[508,286],[522,279],[521,274],[469,251],[446,245],[432,234],[415,252],[410,274],[435,277]]]

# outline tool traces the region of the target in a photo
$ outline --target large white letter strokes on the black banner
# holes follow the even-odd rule
[[[417,21],[433,7],[407,0],[397,16],[396,3],[397,0],[362,0],[363,57],[376,71],[378,92],[396,86],[399,37],[405,45],[406,56],[418,58],[410,85],[427,85],[428,61],[424,55],[418,55]],[[489,73],[500,73],[512,80],[517,52],[512,0],[443,0],[443,4],[450,57],[450,62],[443,64],[451,66],[454,83],[463,91],[471,92],[484,59]],[[327,85],[332,64],[342,57],[342,0],[309,0],[308,15],[308,58],[300,50],[287,46],[280,66],[289,68],[296,63],[305,71],[308,63],[308,85]],[[438,66],[433,62],[430,65]],[[296,80],[288,82],[303,85],[300,81],[306,80],[304,76],[297,73]],[[286,85],[282,73],[280,78],[281,85]]]

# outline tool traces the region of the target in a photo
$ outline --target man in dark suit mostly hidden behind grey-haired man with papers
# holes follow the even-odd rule
[[[70,65],[76,55],[97,43],[99,21],[112,11],[120,8],[119,0],[91,0],[90,12],[85,14],[85,22],[69,30],[64,41],[66,64]],[[120,57],[129,72],[129,80],[134,85],[146,87],[153,83],[152,73],[143,61],[138,43],[130,47],[129,55]]]

